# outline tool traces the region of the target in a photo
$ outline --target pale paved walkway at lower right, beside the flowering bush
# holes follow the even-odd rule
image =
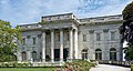
[[[90,71],[131,71],[131,69],[117,65],[99,64],[95,68],[91,68]]]

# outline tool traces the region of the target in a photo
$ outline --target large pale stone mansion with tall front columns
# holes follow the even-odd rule
[[[18,61],[120,61],[122,23],[121,14],[84,19],[73,13],[42,17],[38,23],[20,26],[22,42],[18,42]]]

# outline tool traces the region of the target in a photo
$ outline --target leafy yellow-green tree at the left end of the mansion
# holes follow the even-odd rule
[[[0,20],[0,61],[16,60],[17,40],[21,39],[20,28],[12,28],[9,22]]]

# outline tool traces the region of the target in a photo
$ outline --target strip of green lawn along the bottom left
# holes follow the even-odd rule
[[[57,68],[0,68],[0,71],[54,71]]]

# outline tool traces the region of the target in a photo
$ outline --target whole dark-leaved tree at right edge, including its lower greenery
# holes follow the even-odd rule
[[[120,27],[120,33],[122,34],[122,42],[127,42],[125,49],[125,59],[133,60],[133,2],[127,4],[122,11],[123,24]]]

